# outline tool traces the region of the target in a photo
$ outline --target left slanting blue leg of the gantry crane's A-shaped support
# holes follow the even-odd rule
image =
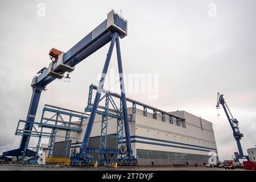
[[[84,134],[83,143],[80,147],[80,152],[82,153],[82,155],[86,154],[86,152],[87,152],[86,150],[87,150],[87,147],[88,147],[88,142],[89,142],[89,138],[90,138],[91,131],[92,131],[92,126],[94,125],[96,110],[97,110],[97,107],[99,105],[101,92],[102,92],[102,89],[103,89],[103,86],[104,86],[105,76],[106,76],[107,71],[108,71],[109,61],[111,59],[111,55],[112,55],[112,52],[113,52],[113,47],[115,46],[115,41],[116,41],[117,37],[118,37],[118,34],[117,34],[117,32],[115,32],[113,34],[113,37],[112,37],[112,40],[111,40],[111,43],[110,43],[110,46],[109,46],[109,49],[108,49],[108,54],[107,54],[107,58],[105,60],[104,68],[103,68],[103,71],[102,71],[102,74],[101,74],[101,79],[100,79],[99,86],[98,86],[98,89],[97,89],[97,93],[96,93],[96,96],[95,96],[94,105],[92,106],[91,115],[90,115],[88,125],[87,125],[87,128],[86,128],[86,133]],[[84,157],[86,157],[86,156],[84,156]]]

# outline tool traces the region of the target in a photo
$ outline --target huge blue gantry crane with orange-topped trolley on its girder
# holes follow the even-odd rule
[[[34,156],[35,152],[29,150],[27,147],[29,145],[31,131],[33,123],[35,121],[36,110],[38,109],[38,104],[40,100],[40,94],[42,90],[46,90],[46,86],[54,81],[56,78],[63,78],[65,73],[70,73],[74,71],[75,65],[86,59],[92,53],[105,46],[105,44],[110,42],[110,46],[107,53],[107,58],[105,60],[103,72],[100,78],[99,86],[97,87],[97,93],[94,100],[94,105],[91,109],[90,119],[88,121],[86,133],[82,145],[80,147],[80,152],[75,156],[75,159],[83,160],[87,159],[90,155],[90,152],[104,153],[104,154],[113,154],[119,152],[118,150],[106,150],[104,148],[92,149],[88,147],[88,142],[91,135],[92,126],[94,124],[95,114],[97,107],[99,105],[99,100],[101,92],[104,86],[105,76],[108,71],[109,61],[111,60],[111,55],[113,48],[116,44],[117,52],[117,63],[120,76],[120,89],[121,89],[121,102],[123,110],[123,120],[125,127],[125,139],[127,150],[125,154],[127,158],[131,161],[135,161],[135,157],[132,155],[131,140],[129,134],[129,123],[127,115],[127,104],[124,88],[124,79],[123,79],[123,67],[121,63],[121,51],[119,37],[124,38],[127,36],[127,20],[121,18],[120,15],[111,11],[107,15],[107,19],[104,20],[99,26],[97,26],[90,34],[85,36],[80,42],[75,44],[70,50],[66,53],[58,51],[57,49],[52,48],[50,50],[50,59],[52,60],[48,68],[43,67],[38,72],[38,76],[35,76],[32,79],[32,97],[30,101],[29,111],[27,113],[27,118],[25,121],[24,134],[22,135],[21,144],[18,149],[3,152],[3,156]]]

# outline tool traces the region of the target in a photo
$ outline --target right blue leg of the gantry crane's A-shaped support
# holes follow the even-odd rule
[[[120,43],[119,43],[118,36],[116,38],[116,53],[117,53],[118,71],[119,71],[119,79],[120,79],[121,100],[123,103],[125,139],[126,139],[126,143],[127,143],[127,151],[129,154],[129,158],[131,159],[132,158],[132,146],[131,146],[131,139],[130,139],[127,104],[126,104],[126,96],[125,96],[125,89],[124,89],[123,66],[122,66]]]

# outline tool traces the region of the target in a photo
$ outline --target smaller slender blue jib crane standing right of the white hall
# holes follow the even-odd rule
[[[238,152],[239,152],[239,154],[237,154],[237,152],[235,152],[235,158],[236,158],[236,160],[245,159],[245,158],[247,159],[247,156],[243,155],[243,150],[242,150],[242,146],[241,146],[241,142],[240,142],[240,140],[243,137],[243,134],[240,133],[240,130],[239,130],[239,127],[238,127],[238,121],[231,114],[231,112],[229,110],[229,107],[227,107],[227,104],[226,104],[223,96],[224,96],[223,94],[220,94],[220,93],[217,94],[217,105],[216,105],[216,107],[217,107],[217,109],[220,109],[220,104],[221,104],[224,111],[225,111],[227,119],[229,120],[229,124],[231,126],[232,131],[233,131],[234,139],[237,142],[237,147],[238,147]]]

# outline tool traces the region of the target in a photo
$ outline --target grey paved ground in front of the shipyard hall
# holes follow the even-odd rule
[[[243,171],[245,169],[224,169],[224,168],[208,168],[204,166],[198,167],[58,167],[55,165],[42,165],[37,164],[21,165],[21,164],[0,164],[0,171],[95,171],[95,170],[111,170],[111,171]]]

